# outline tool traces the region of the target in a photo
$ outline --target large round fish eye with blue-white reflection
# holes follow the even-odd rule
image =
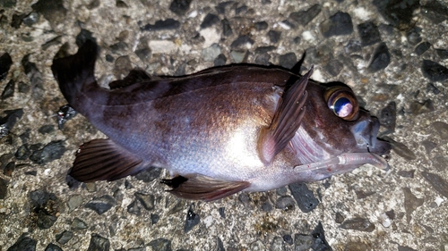
[[[345,121],[358,119],[358,99],[350,88],[333,87],[325,92],[328,108]]]

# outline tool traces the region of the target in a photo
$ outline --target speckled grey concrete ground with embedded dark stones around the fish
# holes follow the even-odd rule
[[[0,250],[448,250],[444,1],[391,1],[407,4],[386,11],[381,3],[388,1],[177,2],[191,4],[0,1],[0,56],[13,62],[4,77],[0,72],[0,117],[23,112],[0,139]],[[309,213],[289,188],[215,203],[180,200],[159,179],[69,188],[65,175],[77,147],[104,137],[82,115],[57,129],[66,102],[50,66],[63,44],[77,50],[82,29],[101,47],[96,75],[103,85],[133,67],[155,75],[222,63],[290,67],[306,51],[303,66],[314,64],[313,79],[349,84],[371,113],[379,116],[394,101],[383,111],[389,130],[382,132],[405,147],[396,145],[389,172],[366,165],[308,184],[319,200]],[[90,209],[103,202],[109,208],[101,214]]]

